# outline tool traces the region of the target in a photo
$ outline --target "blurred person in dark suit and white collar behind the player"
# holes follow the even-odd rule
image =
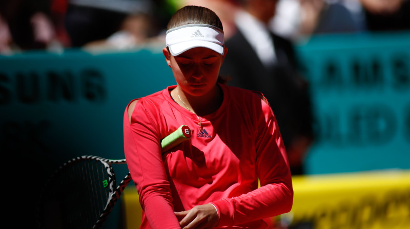
[[[300,75],[291,41],[269,30],[274,0],[244,0],[235,15],[237,32],[226,41],[220,73],[228,84],[261,91],[275,113],[293,175],[304,174],[303,159],[313,141],[307,81]]]

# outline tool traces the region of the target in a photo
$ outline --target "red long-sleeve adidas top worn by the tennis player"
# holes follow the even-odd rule
[[[174,212],[206,203],[218,211],[218,228],[265,228],[262,219],[291,210],[292,178],[271,107],[254,91],[219,86],[223,102],[200,117],[202,131],[170,96],[175,86],[139,99],[131,123],[126,109],[124,148],[140,228],[180,228]],[[181,125],[192,138],[161,154],[160,140]]]

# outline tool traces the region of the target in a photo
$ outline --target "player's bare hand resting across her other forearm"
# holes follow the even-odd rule
[[[175,215],[182,229],[214,228],[219,222],[218,213],[210,203],[197,205],[188,211],[176,212]]]

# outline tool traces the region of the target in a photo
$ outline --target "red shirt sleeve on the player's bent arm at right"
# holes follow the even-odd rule
[[[289,212],[293,203],[292,177],[277,121],[262,102],[256,136],[256,171],[261,187],[237,197],[212,202],[220,226],[239,225]]]

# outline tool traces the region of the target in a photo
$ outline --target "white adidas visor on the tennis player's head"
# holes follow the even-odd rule
[[[223,31],[207,24],[189,24],[167,31],[167,47],[173,56],[197,47],[211,49],[223,55]]]

